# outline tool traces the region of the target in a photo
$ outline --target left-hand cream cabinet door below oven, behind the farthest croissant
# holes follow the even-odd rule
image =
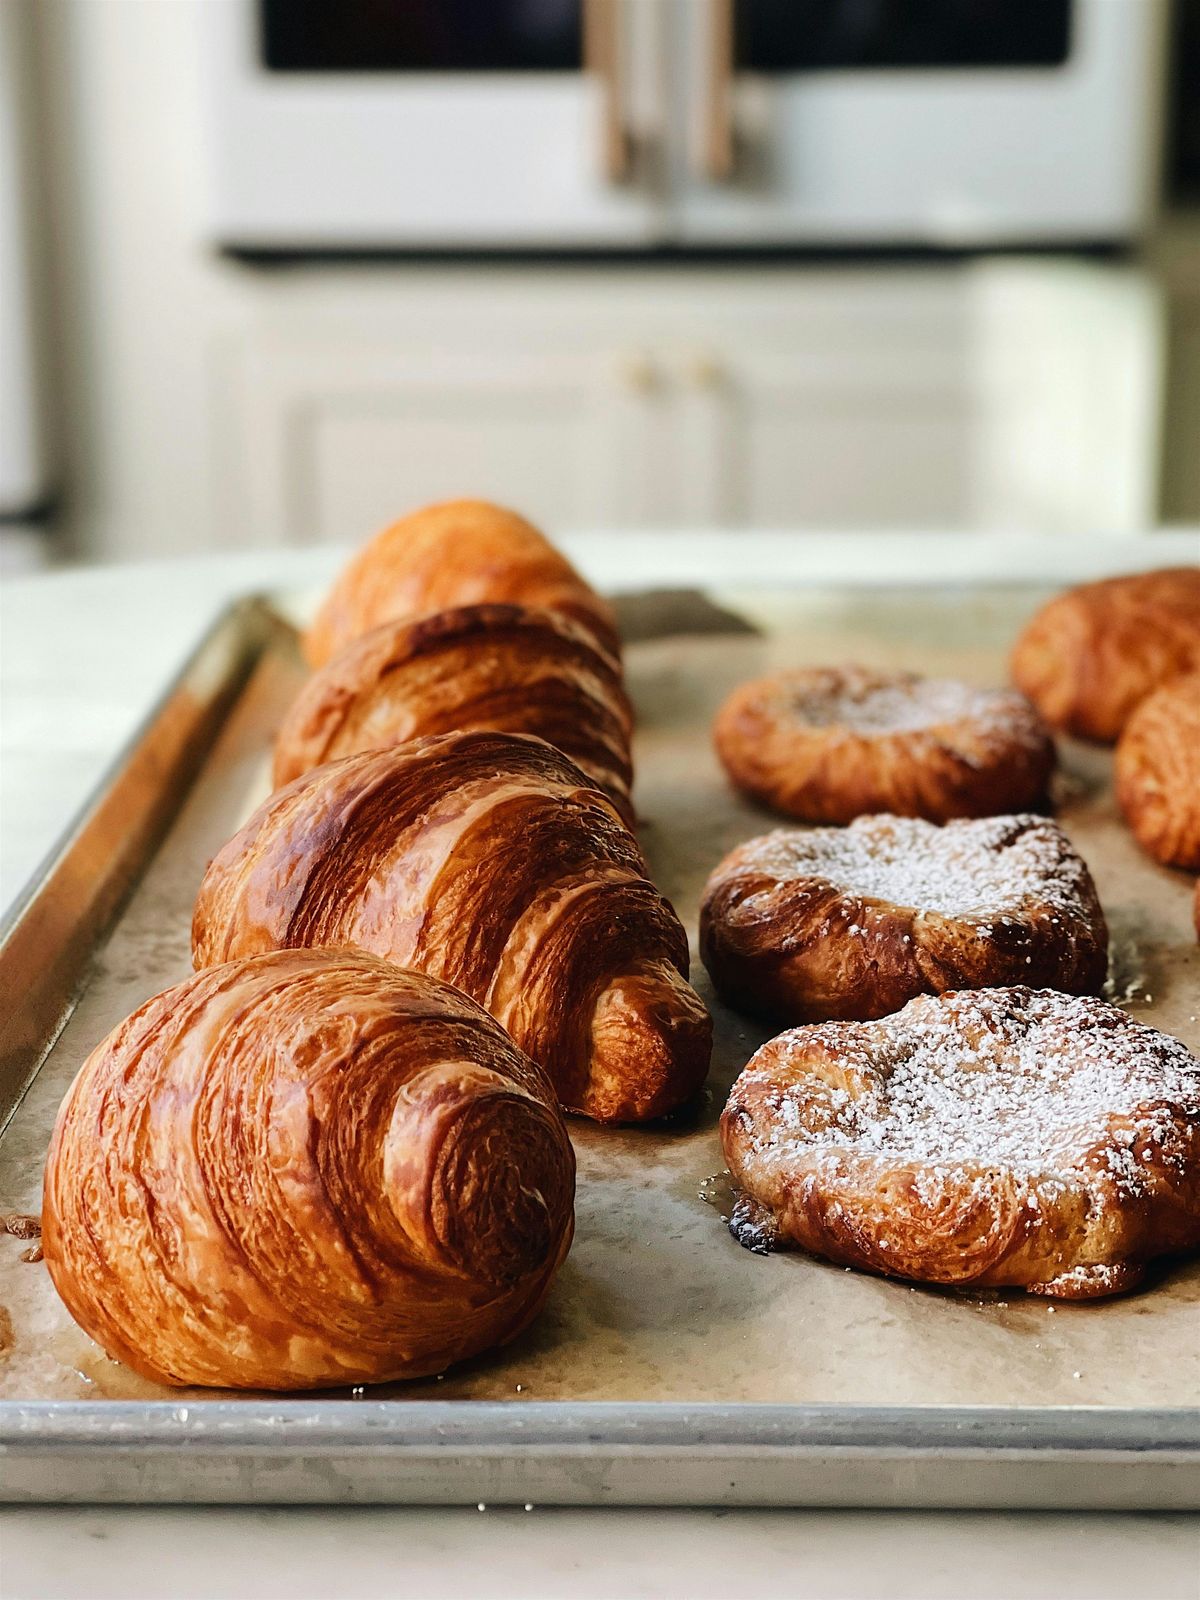
[[[498,318],[501,320],[501,318]],[[410,507],[483,496],[550,530],[656,520],[661,397],[637,352],[469,323],[242,352],[242,477],[254,536],[352,541]]]

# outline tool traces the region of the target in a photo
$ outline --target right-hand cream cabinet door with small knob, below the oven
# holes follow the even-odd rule
[[[755,306],[757,299],[757,306]],[[698,523],[880,528],[970,517],[957,274],[768,286],[682,352],[678,493]]]

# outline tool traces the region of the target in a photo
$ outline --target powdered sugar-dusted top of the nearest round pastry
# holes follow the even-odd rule
[[[1086,1168],[1125,1195],[1144,1192],[1150,1163],[1182,1160],[1176,1125],[1200,1118],[1200,1062],[1179,1040],[1050,989],[923,995],[878,1022],[792,1029],[734,1099],[755,1078],[770,1114],[752,1133],[760,1155],[878,1155],[966,1181]]]

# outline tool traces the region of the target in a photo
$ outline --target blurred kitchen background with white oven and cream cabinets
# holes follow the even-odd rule
[[[1200,0],[0,0],[6,570],[1200,522]]]

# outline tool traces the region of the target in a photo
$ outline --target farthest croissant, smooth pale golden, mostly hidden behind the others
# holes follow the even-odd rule
[[[354,557],[304,654],[320,667],[381,622],[488,600],[565,611],[619,653],[613,608],[533,523],[488,501],[446,501],[402,517]]]

